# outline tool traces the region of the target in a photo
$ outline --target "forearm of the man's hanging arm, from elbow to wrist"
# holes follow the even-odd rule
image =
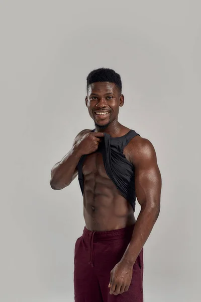
[[[153,226],[158,218],[160,208],[158,206],[142,206],[136,220],[131,241],[121,261],[134,265],[140,251],[147,241]]]

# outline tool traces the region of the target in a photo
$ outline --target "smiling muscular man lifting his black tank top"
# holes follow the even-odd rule
[[[61,190],[78,175],[85,226],[75,243],[75,302],[143,302],[143,246],[160,211],[161,175],[152,143],[118,121],[121,77],[99,68],[87,77],[95,128],[82,130],[51,171]],[[137,220],[135,199],[141,205]]]

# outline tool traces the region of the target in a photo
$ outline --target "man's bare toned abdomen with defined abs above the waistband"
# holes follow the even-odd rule
[[[84,177],[83,214],[86,229],[111,231],[136,222],[132,206],[111,179],[98,172]]]

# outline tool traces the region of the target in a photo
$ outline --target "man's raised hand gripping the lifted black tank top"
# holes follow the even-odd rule
[[[102,137],[104,137],[103,132],[88,132],[77,141],[75,147],[81,155],[90,154],[97,150],[99,142],[103,139]]]

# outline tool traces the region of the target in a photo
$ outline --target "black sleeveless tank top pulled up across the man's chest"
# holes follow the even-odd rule
[[[95,132],[93,129],[91,132]],[[135,211],[135,167],[129,162],[123,154],[124,147],[129,141],[139,135],[131,129],[128,133],[120,137],[111,137],[110,134],[104,133],[103,140],[99,142],[97,152],[102,153],[104,166],[109,178],[116,185],[122,196],[131,204]],[[84,193],[84,175],[82,165],[87,155],[83,155],[78,164],[78,181],[82,195]]]

